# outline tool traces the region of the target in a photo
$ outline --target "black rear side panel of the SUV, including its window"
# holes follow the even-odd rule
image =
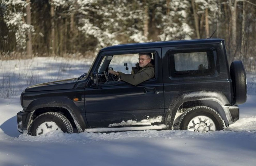
[[[165,109],[182,93],[218,92],[229,87],[229,81],[220,77],[215,66],[220,49],[216,45],[186,45],[162,49]],[[225,61],[223,61],[225,62]],[[217,80],[221,84],[216,84]]]

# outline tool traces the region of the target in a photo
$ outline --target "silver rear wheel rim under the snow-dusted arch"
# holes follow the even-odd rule
[[[216,125],[213,120],[206,116],[197,116],[188,123],[188,131],[208,132],[216,131]]]

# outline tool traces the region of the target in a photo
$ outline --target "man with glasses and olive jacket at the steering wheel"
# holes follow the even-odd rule
[[[138,58],[139,63],[136,63],[135,67],[132,67],[131,74],[115,72],[114,70],[108,70],[108,74],[114,74],[118,80],[122,80],[136,86],[141,82],[155,77],[155,66],[151,63],[151,58],[151,53],[140,53]]]

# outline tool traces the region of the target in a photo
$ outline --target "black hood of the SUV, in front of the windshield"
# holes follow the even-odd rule
[[[25,92],[72,89],[75,86],[75,84],[76,81],[74,81],[73,79],[45,82],[27,87],[25,89]]]

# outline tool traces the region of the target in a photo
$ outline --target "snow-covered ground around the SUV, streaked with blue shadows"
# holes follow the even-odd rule
[[[91,63],[92,59],[49,57],[0,61],[0,166],[255,165],[253,74],[248,74],[248,99],[240,105],[240,119],[224,132],[50,132],[33,137],[17,131],[16,113],[21,110],[20,93],[25,87],[78,77]]]

